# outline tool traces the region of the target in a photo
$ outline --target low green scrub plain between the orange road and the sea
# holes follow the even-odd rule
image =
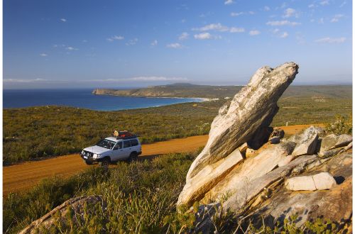
[[[332,89],[331,89],[332,88]],[[281,97],[273,126],[329,123],[351,117],[351,87],[290,87]],[[209,133],[219,107],[230,99],[127,111],[65,106],[4,109],[4,165],[80,152],[114,129],[131,130],[142,143]]]

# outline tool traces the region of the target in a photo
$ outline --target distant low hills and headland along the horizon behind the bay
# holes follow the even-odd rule
[[[211,86],[188,83],[167,84],[141,89],[95,89],[92,94],[139,97],[181,97],[181,98],[226,98],[233,97],[243,86]],[[351,97],[351,85],[290,86],[287,96],[324,96],[333,98]]]

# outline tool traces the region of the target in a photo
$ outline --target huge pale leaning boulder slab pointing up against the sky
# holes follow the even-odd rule
[[[195,181],[202,179],[199,172],[204,167],[219,164],[220,160],[231,155],[240,145],[255,138],[256,133],[268,128],[273,116],[278,112],[277,101],[295,79],[297,69],[298,65],[294,62],[285,63],[275,69],[271,67],[258,69],[249,84],[241,89],[229,104],[219,109],[217,117],[212,122],[207,145],[187,172],[187,185],[179,196],[178,204],[191,204],[192,200],[187,194],[194,194],[198,190],[202,193],[208,191],[190,183],[192,179]],[[222,178],[209,177],[205,179],[204,184],[213,187]],[[190,192],[187,193],[185,190]]]

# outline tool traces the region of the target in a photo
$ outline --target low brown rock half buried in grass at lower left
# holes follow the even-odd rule
[[[102,196],[80,196],[75,197],[73,199],[69,199],[60,206],[55,207],[49,213],[46,213],[41,218],[38,218],[38,220],[33,221],[30,225],[21,230],[20,234],[41,233],[40,229],[44,228],[45,230],[48,230],[52,225],[54,225],[54,223],[57,221],[57,218],[60,218],[60,220],[65,221],[65,219],[67,218],[67,213],[70,212],[70,209],[72,209],[74,213],[81,214],[84,212],[85,205],[94,205],[97,203],[104,203],[104,201],[102,200]]]

